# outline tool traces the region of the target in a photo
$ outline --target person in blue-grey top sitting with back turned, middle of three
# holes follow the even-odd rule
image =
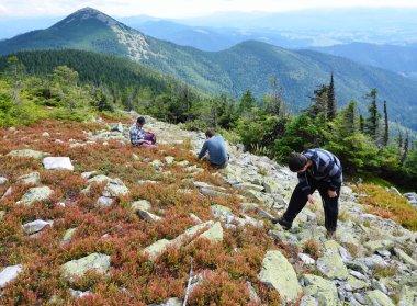
[[[226,144],[221,135],[216,135],[214,131],[205,132],[205,143],[199,154],[199,159],[207,158],[210,163],[215,168],[225,168],[227,166],[228,156],[226,152]],[[208,155],[206,156],[206,152]]]

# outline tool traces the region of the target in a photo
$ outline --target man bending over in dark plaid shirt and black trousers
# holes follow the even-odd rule
[[[339,195],[342,182],[342,169],[339,159],[324,149],[309,149],[302,154],[292,152],[289,159],[290,170],[297,172],[298,184],[295,186],[285,213],[280,218],[273,218],[284,229],[290,229],[296,215],[307,202],[314,204],[315,190],[322,195],[325,211],[325,227],[327,238],[336,233],[339,213]]]

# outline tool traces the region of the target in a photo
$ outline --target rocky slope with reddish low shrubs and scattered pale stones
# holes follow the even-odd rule
[[[216,172],[202,133],[147,121],[157,149],[129,121],[1,132],[0,304],[417,305],[417,235],[363,195],[343,186],[335,240],[319,203],[284,231],[288,168],[229,146]]]

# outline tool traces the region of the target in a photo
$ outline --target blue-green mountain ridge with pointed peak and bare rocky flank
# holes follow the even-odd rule
[[[211,93],[240,97],[251,90],[270,91],[279,78],[284,99],[294,110],[309,103],[316,86],[335,75],[339,104],[354,99],[364,110],[363,95],[377,88],[387,100],[392,120],[417,129],[417,83],[386,70],[363,66],[313,50],[289,50],[261,42],[244,42],[223,52],[202,52],[157,39],[90,8],[49,29],[0,42],[0,54],[23,49],[75,48],[127,57]]]

